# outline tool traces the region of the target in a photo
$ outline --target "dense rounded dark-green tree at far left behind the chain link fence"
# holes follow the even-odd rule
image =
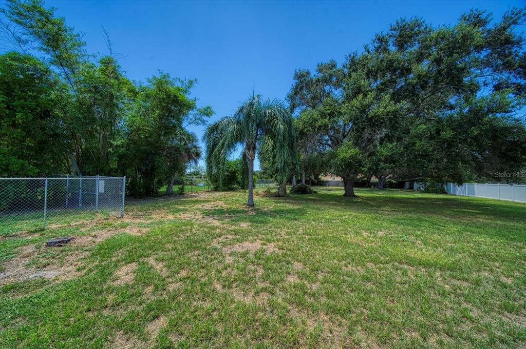
[[[53,90],[59,82],[42,61],[7,52],[0,55],[0,175],[55,174],[60,120]]]

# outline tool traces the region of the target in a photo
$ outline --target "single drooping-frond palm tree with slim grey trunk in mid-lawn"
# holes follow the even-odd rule
[[[276,179],[285,183],[290,164],[296,160],[296,135],[293,118],[283,102],[261,101],[254,95],[241,104],[234,115],[223,117],[209,125],[205,132],[207,174],[217,174],[221,181],[228,157],[238,145],[244,146],[242,157],[248,166],[248,206],[254,206],[254,159],[265,145],[271,149],[271,165]]]

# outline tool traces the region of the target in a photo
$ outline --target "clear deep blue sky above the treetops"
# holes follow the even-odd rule
[[[0,0],[1,1],[1,0]],[[211,121],[231,114],[254,88],[285,99],[297,68],[339,63],[400,17],[453,24],[477,7],[500,17],[524,1],[176,2],[46,1],[84,33],[88,52],[106,54],[102,26],[133,80],[158,70],[196,78],[194,96],[211,105]],[[192,128],[199,138],[202,127]]]

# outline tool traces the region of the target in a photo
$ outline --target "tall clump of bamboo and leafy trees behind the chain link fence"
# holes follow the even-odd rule
[[[2,8],[0,175],[126,175],[128,194],[173,191],[200,157],[187,130],[213,114],[195,80],[159,72],[130,81],[112,51],[89,55],[82,36],[39,0]]]

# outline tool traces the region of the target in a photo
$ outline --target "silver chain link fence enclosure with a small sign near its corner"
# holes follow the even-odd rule
[[[0,234],[124,216],[126,177],[0,178]]]

